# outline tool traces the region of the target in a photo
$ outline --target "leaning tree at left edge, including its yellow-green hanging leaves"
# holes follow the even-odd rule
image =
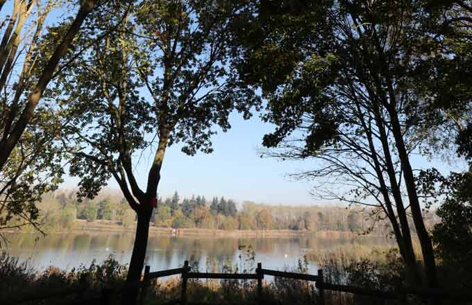
[[[56,1],[10,1],[12,13],[4,20],[0,42],[0,91],[4,92],[0,105],[0,228],[8,228],[8,221],[15,217],[22,220],[15,227],[33,225],[40,229],[35,204],[62,181],[60,154],[53,143],[61,123],[53,107],[38,105],[97,2],[81,1],[64,35],[56,36],[47,59],[38,60],[35,53],[41,47],[44,20]],[[4,3],[1,1],[0,10]],[[16,68],[18,64],[22,64],[21,70]]]

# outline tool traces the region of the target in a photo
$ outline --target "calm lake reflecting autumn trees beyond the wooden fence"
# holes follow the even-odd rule
[[[48,234],[5,234],[10,241],[4,248],[10,256],[28,261],[39,270],[49,265],[70,270],[79,265],[101,262],[112,254],[119,263],[129,263],[133,250],[134,234],[115,232]],[[251,245],[255,251],[255,263],[263,268],[292,269],[303,255],[312,250],[332,250],[340,245],[382,246],[394,245],[392,240],[375,236],[325,237],[316,234],[237,238],[220,236],[169,236],[150,234],[146,252],[146,264],[151,271],[178,268],[185,260],[199,263],[201,271],[209,271],[209,265],[233,261],[242,263],[241,245]],[[1,251],[1,250],[0,250]],[[310,273],[317,267],[310,263]],[[214,271],[214,270],[213,270]]]

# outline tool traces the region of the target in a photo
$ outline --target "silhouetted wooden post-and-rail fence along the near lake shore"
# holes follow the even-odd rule
[[[377,297],[379,299],[398,299],[406,304],[407,295],[419,295],[423,298],[430,299],[445,299],[445,300],[454,300],[457,302],[467,302],[467,304],[472,304],[472,293],[464,292],[463,290],[439,290],[439,289],[424,289],[424,288],[409,288],[403,287],[398,288],[396,291],[383,291],[383,290],[373,290],[367,288],[359,288],[346,285],[337,285],[329,284],[323,280],[323,270],[318,270],[317,275],[307,275],[295,272],[284,272],[278,270],[269,270],[263,269],[262,263],[258,263],[258,267],[255,269],[255,273],[208,273],[208,272],[190,272],[189,262],[185,261],[182,268],[175,268],[169,270],[162,270],[157,272],[150,272],[149,265],[146,265],[144,268],[144,277],[142,281],[133,284],[124,284],[119,288],[103,288],[101,295],[96,296],[92,299],[87,299],[88,304],[109,304],[108,297],[117,292],[118,290],[123,290],[124,288],[130,288],[130,286],[139,286],[141,288],[141,294],[139,303],[144,304],[144,299],[146,297],[146,292],[149,289],[151,284],[151,279],[158,279],[159,277],[168,277],[171,275],[180,275],[182,278],[182,290],[180,295],[180,300],[174,303],[180,303],[185,305],[187,303],[187,281],[188,279],[255,279],[258,281],[257,295],[258,302],[262,304],[262,281],[264,280],[264,275],[271,275],[273,277],[285,277],[288,279],[300,279],[303,281],[314,281],[315,287],[319,290],[319,299],[318,304],[325,304],[325,291],[339,291],[342,293],[354,293],[356,295],[366,295],[370,297]],[[68,290],[61,291],[51,291],[49,293],[41,293],[40,295],[28,296],[23,295],[17,299],[12,299],[10,302],[6,302],[8,305],[17,305],[24,302],[31,302],[40,299],[48,299],[51,297],[61,297],[66,295],[76,294],[75,302],[67,302],[65,304],[84,304],[83,299],[84,290],[82,288],[72,288]]]

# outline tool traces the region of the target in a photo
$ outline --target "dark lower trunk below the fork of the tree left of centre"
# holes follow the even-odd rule
[[[135,245],[131,255],[130,266],[126,284],[135,284],[141,280],[144,259],[146,257],[146,247],[149,237],[149,221],[151,220],[152,207],[148,202],[141,203],[140,210],[137,211],[137,227],[135,234]],[[140,289],[137,286],[130,286],[123,295],[123,304],[135,304]]]

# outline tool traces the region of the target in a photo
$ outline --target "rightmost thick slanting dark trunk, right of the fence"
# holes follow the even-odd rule
[[[423,263],[425,265],[425,273],[427,277],[428,287],[437,288],[439,287],[437,279],[437,270],[435,262],[435,254],[432,250],[431,238],[426,230],[423,222],[423,215],[421,214],[421,206],[419,204],[418,194],[416,193],[416,184],[413,175],[413,169],[410,164],[410,158],[408,157],[405,141],[401,131],[400,122],[398,121],[398,114],[394,107],[388,109],[392,131],[395,138],[395,146],[398,150],[398,156],[400,157],[401,167],[403,169],[403,177],[405,178],[405,186],[410,199],[410,209],[412,211],[412,218],[414,227],[416,228],[416,234],[418,234],[419,242],[421,245],[421,252],[423,254]]]

